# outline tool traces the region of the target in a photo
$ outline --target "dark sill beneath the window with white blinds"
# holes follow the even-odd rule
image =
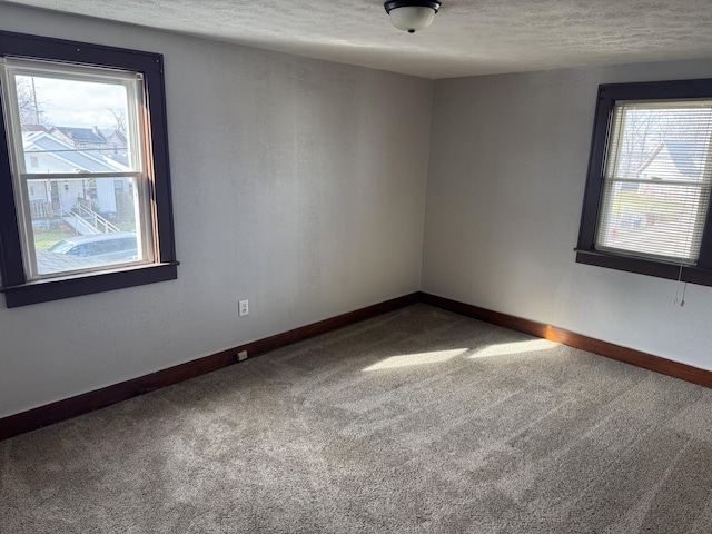
[[[575,248],[576,263],[593,265],[596,267],[606,267],[609,269],[624,270],[626,273],[635,273],[639,275],[655,276],[657,278],[666,278],[669,280],[682,280],[690,284],[712,287],[712,270],[703,269],[693,265],[654,261],[651,259],[634,258],[629,256],[619,256],[600,250],[587,250]]]

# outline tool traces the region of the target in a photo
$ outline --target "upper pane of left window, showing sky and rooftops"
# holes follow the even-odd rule
[[[129,82],[18,73],[26,172],[138,170],[131,152]]]

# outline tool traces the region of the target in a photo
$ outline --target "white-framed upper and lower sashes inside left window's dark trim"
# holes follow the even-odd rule
[[[27,279],[152,261],[141,76],[21,59],[6,76]]]

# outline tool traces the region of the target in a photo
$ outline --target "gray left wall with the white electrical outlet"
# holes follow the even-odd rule
[[[0,307],[0,417],[419,288],[431,81],[1,11],[2,30],[165,55],[181,265],[176,281]]]

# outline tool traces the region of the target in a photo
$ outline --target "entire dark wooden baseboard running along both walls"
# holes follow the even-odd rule
[[[260,354],[268,353],[269,350],[300,342],[301,339],[317,336],[319,334],[326,334],[327,332],[416,303],[428,304],[459,315],[492,323],[493,325],[563,343],[564,345],[599,354],[607,358],[617,359],[637,367],[681,378],[693,384],[712,387],[712,372],[710,370],[700,369],[685,364],[679,364],[659,356],[653,356],[640,350],[633,350],[632,348],[622,347],[620,345],[602,342],[592,337],[582,336],[581,334],[575,334],[542,323],[522,319],[520,317],[492,312],[469,304],[421,291],[357,309],[330,319],[320,320],[300,328],[295,328],[294,330],[277,334],[276,336],[247,343],[186,364],[176,365],[157,373],[151,373],[131,380],[85,393],[83,395],[40,406],[9,417],[3,417],[0,419],[0,441],[36,431],[61,421],[70,419],[72,417],[93,412],[95,409],[111,406],[112,404],[120,403],[121,400],[127,400],[138,395],[144,395],[146,393],[160,389],[161,387],[178,384],[179,382],[227,367],[228,365],[237,363],[237,353],[240,350],[247,350],[250,357],[255,357]]]

